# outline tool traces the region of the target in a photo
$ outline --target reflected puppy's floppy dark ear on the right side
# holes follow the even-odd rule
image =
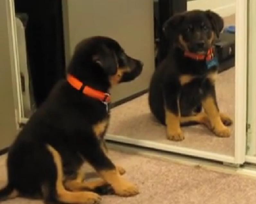
[[[212,12],[210,10],[205,11],[207,18],[210,20],[212,24],[212,28],[214,32],[216,33],[216,36],[219,37],[220,32],[222,31],[224,27],[224,21],[223,19],[215,12]]]

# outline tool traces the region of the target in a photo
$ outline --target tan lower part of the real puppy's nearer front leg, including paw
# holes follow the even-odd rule
[[[99,171],[102,178],[112,186],[119,196],[134,196],[139,193],[138,188],[120,176],[116,169]]]

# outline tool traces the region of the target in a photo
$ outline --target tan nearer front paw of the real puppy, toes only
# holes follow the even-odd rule
[[[113,186],[113,188],[117,195],[124,197],[135,196],[139,193],[138,188],[134,184],[123,179],[117,186]]]

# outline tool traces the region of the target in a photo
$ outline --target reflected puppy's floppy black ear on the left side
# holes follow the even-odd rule
[[[184,13],[175,14],[163,24],[163,33],[167,39],[171,39],[175,30],[184,19]]]

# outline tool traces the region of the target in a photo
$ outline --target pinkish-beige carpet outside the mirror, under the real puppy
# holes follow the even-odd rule
[[[256,180],[200,167],[110,151],[110,157],[127,170],[140,194],[131,198],[102,196],[102,204],[254,204]],[[0,157],[0,186],[6,180],[5,156]],[[41,204],[16,198],[2,204]]]

